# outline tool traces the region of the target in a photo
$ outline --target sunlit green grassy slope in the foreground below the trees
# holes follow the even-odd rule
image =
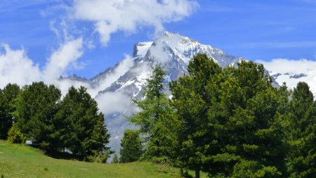
[[[190,172],[192,174],[192,172]],[[174,167],[152,163],[99,164],[50,158],[41,151],[0,140],[0,177],[180,177]],[[206,174],[202,174],[206,177]]]

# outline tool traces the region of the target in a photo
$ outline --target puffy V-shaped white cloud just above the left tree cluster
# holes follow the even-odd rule
[[[74,39],[51,53],[44,70],[28,58],[25,49],[11,49],[8,44],[0,46],[0,87],[8,83],[16,83],[21,87],[32,82],[44,81],[58,84],[60,75],[68,68],[76,67],[76,61],[82,55],[82,39]],[[72,66],[73,65],[73,66]]]

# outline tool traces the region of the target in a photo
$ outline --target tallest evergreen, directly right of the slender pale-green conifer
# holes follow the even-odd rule
[[[195,177],[199,177],[211,143],[207,138],[207,110],[211,101],[206,86],[221,68],[205,54],[198,54],[187,70],[189,75],[170,84],[172,106],[180,122],[176,150],[181,166],[195,170]]]

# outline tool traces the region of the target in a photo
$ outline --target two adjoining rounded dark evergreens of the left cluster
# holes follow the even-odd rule
[[[105,163],[112,154],[103,113],[86,88],[71,87],[60,100],[60,90],[44,82],[23,87],[15,100],[20,131],[48,153],[71,151],[84,160]]]

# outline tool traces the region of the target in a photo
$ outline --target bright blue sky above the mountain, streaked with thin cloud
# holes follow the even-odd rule
[[[98,0],[93,1],[98,3]],[[81,39],[76,58],[68,60],[76,63],[67,63],[61,74],[74,73],[87,78],[112,67],[125,55],[131,55],[133,44],[152,41],[162,30],[250,60],[316,59],[315,0],[180,0],[180,5],[181,2],[184,10],[166,10],[169,16],[157,10],[153,12],[157,14],[153,15],[153,22],[151,18],[142,21],[136,17],[136,23],[131,26],[119,24],[114,30],[111,28],[110,39],[102,41],[100,38],[106,34],[100,34],[101,28],[97,29],[96,24],[112,14],[88,16],[78,5],[79,0],[1,0],[0,43],[7,44],[13,51],[22,50],[41,71],[53,58],[53,53],[62,51],[62,45]],[[187,3],[190,9],[185,7]],[[78,13],[74,6],[82,12]],[[154,22],[157,19],[159,23]],[[1,53],[5,56],[8,52],[0,48]]]

